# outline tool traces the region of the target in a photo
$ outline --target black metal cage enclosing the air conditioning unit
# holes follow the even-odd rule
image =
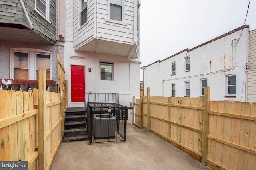
[[[116,103],[86,104],[89,143],[126,141],[126,106]]]

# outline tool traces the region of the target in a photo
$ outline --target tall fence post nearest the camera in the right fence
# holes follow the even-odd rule
[[[203,134],[202,134],[202,159],[201,163],[206,165],[208,151],[208,132],[209,132],[209,111],[210,108],[210,87],[204,87],[204,113],[203,113]]]

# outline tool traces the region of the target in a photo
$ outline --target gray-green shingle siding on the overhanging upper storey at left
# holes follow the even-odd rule
[[[23,0],[34,32],[52,43],[56,42],[56,0],[50,0],[51,23],[42,18],[35,10],[35,0]],[[0,0],[0,22],[21,24],[28,28],[30,25],[19,0]]]

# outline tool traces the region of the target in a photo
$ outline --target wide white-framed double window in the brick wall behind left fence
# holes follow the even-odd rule
[[[45,69],[46,79],[51,80],[51,53],[40,49],[22,50],[12,49],[11,78],[37,80],[38,69]]]

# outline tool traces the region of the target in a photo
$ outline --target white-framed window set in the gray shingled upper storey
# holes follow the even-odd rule
[[[38,14],[40,14],[40,16],[42,16],[44,19],[46,19],[46,20],[50,20],[49,19],[49,4],[50,4],[50,2],[49,2],[49,0],[36,0],[35,1],[36,3],[36,6],[35,6],[35,11],[38,13]]]

